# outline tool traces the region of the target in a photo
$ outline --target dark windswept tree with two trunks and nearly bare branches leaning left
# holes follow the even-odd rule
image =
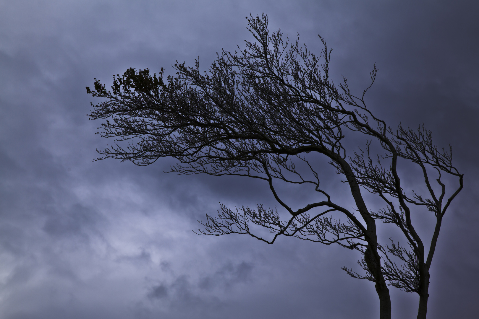
[[[149,165],[170,156],[179,162],[171,171],[179,174],[264,180],[288,219],[261,204],[234,210],[221,205],[217,216],[206,215],[200,233],[249,234],[267,243],[284,235],[356,250],[364,273],[343,269],[375,284],[381,319],[391,318],[388,285],[416,292],[417,318],[426,318],[429,269],[441,223],[463,187],[451,148],[438,149],[424,126],[392,129],[373,115],[365,93],[375,81],[376,66],[371,84],[356,96],[346,78],[339,86],[330,79],[331,51],[323,38],[317,56],[300,46],[299,38],[290,43],[280,31],[270,34],[266,15],[247,19],[257,43],[246,41],[235,53],[222,51],[208,72],[200,72],[198,60],[194,67],[177,62],[176,76],[165,83],[163,68],[158,76],[130,68],[114,76],[112,91],[95,79],[94,90],[87,87],[87,92],[106,100],[92,104],[89,116],[106,119],[99,133],[116,138],[98,151],[103,155],[98,159]],[[366,139],[362,149],[351,145],[357,136]],[[354,210],[320,187],[324,161],[345,179]],[[420,190],[404,189],[401,182],[411,167],[422,172]],[[458,186],[446,194],[451,179]],[[310,185],[319,200],[294,210],[276,191],[278,182]],[[383,208],[368,209],[364,190],[376,194]],[[422,210],[435,216],[427,251],[411,219]],[[378,242],[376,220],[397,226],[407,246],[392,238],[389,244]],[[273,237],[253,233],[250,224],[267,228]]]

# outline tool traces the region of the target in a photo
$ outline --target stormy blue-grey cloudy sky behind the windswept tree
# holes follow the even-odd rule
[[[177,60],[198,57],[205,69],[251,40],[250,12],[313,52],[320,34],[332,77],[360,92],[376,63],[366,98],[377,116],[424,123],[437,145],[453,146],[464,189],[443,221],[428,316],[477,318],[479,4],[460,0],[0,0],[0,318],[378,317],[372,283],[340,269],[357,267],[354,252],[193,232],[219,203],[274,207],[261,181],[165,174],[169,158],[91,161],[111,143],[86,116],[94,78],[111,85],[129,67],[173,74]],[[416,295],[390,291],[393,318],[415,318]]]

